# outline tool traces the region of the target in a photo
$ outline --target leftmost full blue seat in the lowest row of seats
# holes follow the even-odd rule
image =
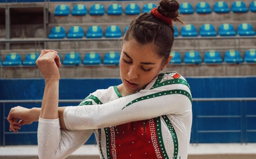
[[[2,62],[3,66],[18,66],[21,64],[22,64],[21,56],[20,56],[20,54],[18,54],[16,52],[7,54],[5,56],[5,61]]]

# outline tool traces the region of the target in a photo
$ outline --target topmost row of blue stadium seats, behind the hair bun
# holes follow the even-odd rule
[[[146,3],[143,8],[142,12],[150,12],[150,10],[154,7],[157,7],[154,3]],[[230,9],[231,8],[231,9]],[[246,6],[245,2],[243,1],[234,1],[231,7],[224,1],[215,2],[213,5],[213,11],[215,13],[229,13],[233,11],[234,13],[247,13],[248,10],[251,12],[256,12],[256,1],[252,1],[249,4],[249,9]],[[208,2],[198,2],[195,6],[195,11],[198,14],[210,14],[212,12],[212,8]],[[189,2],[182,2],[180,4],[179,12],[181,14],[193,14],[194,8],[191,3]],[[83,4],[76,4],[71,12],[71,15],[86,15],[88,13],[87,7]],[[123,7],[120,4],[113,3],[108,6],[107,15],[122,15],[123,14]],[[138,15],[141,13],[140,6],[136,3],[128,4],[125,9],[124,13],[126,15]],[[56,6],[54,15],[56,16],[67,16],[70,14],[70,7],[65,4],[60,4]],[[96,3],[90,7],[89,15],[104,15],[105,14],[105,7],[100,4]]]

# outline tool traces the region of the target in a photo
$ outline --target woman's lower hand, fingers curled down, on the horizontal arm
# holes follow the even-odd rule
[[[14,107],[11,108],[10,113],[7,117],[8,122],[10,123],[10,131],[18,132],[20,126],[25,124],[31,124],[33,122],[32,117],[30,116],[30,109],[24,107]],[[20,121],[18,121],[20,119]]]

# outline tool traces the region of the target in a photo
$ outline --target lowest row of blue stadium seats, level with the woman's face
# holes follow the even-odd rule
[[[170,55],[173,55],[170,64],[181,64],[182,58],[179,52],[172,51]],[[25,60],[22,62],[21,56],[18,53],[10,53],[6,55],[5,61],[2,62],[0,58],[0,64],[3,66],[35,66],[35,61],[37,60],[39,54],[38,53],[30,53],[27,54]],[[60,55],[59,55],[60,56]],[[60,56],[61,58],[61,56]],[[103,64],[105,65],[119,65],[120,55],[118,52],[110,51],[104,55]],[[222,62],[230,63],[230,64],[239,64],[243,61],[247,63],[256,64],[256,50],[249,49],[245,51],[244,60],[240,55],[238,50],[228,50],[224,54],[224,60],[222,60],[220,52],[216,50],[209,50],[204,53],[204,62],[206,64],[220,64]],[[80,65],[82,64],[81,56],[78,52],[69,52],[65,54],[64,60],[62,61],[63,65]],[[185,64],[201,64],[202,58],[198,51],[187,51],[184,54],[183,62]],[[97,52],[89,52],[85,54],[83,59],[84,65],[100,65],[101,56]]]

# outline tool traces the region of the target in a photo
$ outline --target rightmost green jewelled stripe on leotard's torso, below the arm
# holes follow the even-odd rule
[[[172,138],[173,138],[173,144],[174,144],[173,159],[177,159],[179,145],[178,145],[178,138],[177,138],[176,131],[175,131],[173,125],[172,125],[172,121],[166,115],[164,115],[162,117],[164,119],[164,122],[168,126],[169,131],[171,132],[171,135],[172,135]]]

